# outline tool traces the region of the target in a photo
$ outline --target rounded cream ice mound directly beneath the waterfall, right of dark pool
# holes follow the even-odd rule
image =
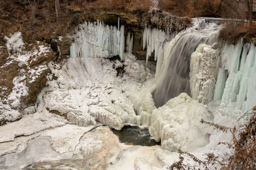
[[[154,109],[149,132],[163,149],[195,150],[209,142],[211,128],[200,120],[212,121],[205,106],[186,93],[170,99],[166,105]]]

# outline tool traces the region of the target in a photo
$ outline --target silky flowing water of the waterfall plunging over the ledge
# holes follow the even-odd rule
[[[157,80],[157,88],[153,94],[156,107],[164,105],[169,99],[178,96],[182,92],[191,94],[189,85],[191,55],[202,43],[212,45],[215,41],[211,37],[218,32],[218,29],[219,26],[215,23],[208,23],[203,28],[199,28],[199,26],[197,26],[197,29],[192,27],[178,34],[170,42],[169,50],[167,50],[169,51],[169,54],[167,53],[168,59],[165,61],[163,73]],[[159,75],[159,73],[156,75]],[[214,85],[215,82],[211,84]],[[209,91],[213,91],[213,87],[210,88],[212,89],[209,89]]]

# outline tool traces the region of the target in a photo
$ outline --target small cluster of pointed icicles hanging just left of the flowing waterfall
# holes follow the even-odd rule
[[[167,34],[164,31],[145,25],[143,32],[143,50],[147,48],[146,63],[148,62],[148,58],[151,57],[153,52],[154,60],[157,60],[161,42],[164,42],[166,38]]]

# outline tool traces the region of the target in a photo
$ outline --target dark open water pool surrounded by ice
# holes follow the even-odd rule
[[[141,129],[137,126],[124,126],[121,130],[111,129],[111,131],[118,136],[120,142],[125,144],[140,146],[161,145],[161,142],[150,139],[148,129]]]

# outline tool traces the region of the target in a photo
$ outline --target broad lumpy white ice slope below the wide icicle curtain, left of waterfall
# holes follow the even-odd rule
[[[123,63],[101,58],[68,59],[60,70],[53,70],[58,79],[49,82],[42,94],[45,107],[67,114],[70,123],[81,126],[96,121],[118,130],[126,124],[149,126],[154,102],[150,92],[139,92],[145,89],[140,82],[154,74],[131,53],[126,58]],[[125,72],[118,75],[116,69],[122,67]]]

